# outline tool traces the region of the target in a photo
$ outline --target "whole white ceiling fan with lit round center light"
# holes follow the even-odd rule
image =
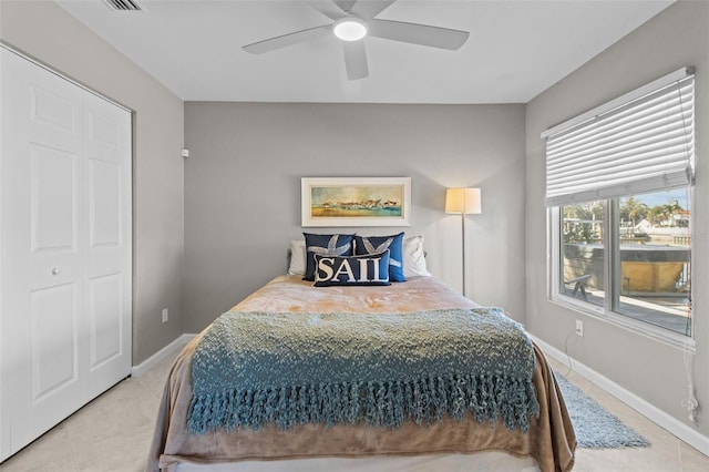
[[[244,51],[263,54],[291,44],[333,33],[342,41],[345,68],[349,80],[369,75],[363,39],[368,35],[448,50],[462,47],[470,33],[429,24],[378,20],[377,17],[395,0],[327,0],[308,1],[312,8],[332,20],[309,28],[243,47]]]

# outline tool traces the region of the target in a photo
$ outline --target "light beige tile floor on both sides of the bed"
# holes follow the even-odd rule
[[[0,464],[0,471],[142,471],[172,360],[169,356],[144,376],[122,381]],[[549,361],[557,371],[566,372],[565,367],[553,359]],[[574,471],[709,471],[709,456],[579,374],[571,372],[567,378],[651,443],[650,448],[638,449],[578,449]]]

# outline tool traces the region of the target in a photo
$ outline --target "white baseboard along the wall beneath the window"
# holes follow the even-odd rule
[[[534,336],[532,336],[532,338],[540,346],[540,348],[542,348],[544,352],[552,356],[554,359],[558,360],[567,368],[572,367],[569,366],[569,358],[566,356],[566,353],[562,352],[561,350],[542,341],[541,339]],[[675,417],[667,414],[666,412],[658,409],[657,407],[643,400],[640,397],[636,396],[635,393],[624,389],[619,384],[607,379],[606,377],[602,376],[595,370],[578,362],[576,359],[573,359],[573,369],[574,371],[582,374],[586,379],[590,380],[592,382],[594,382],[595,384],[597,384],[598,387],[600,387],[612,396],[616,397],[618,400],[626,403],[628,407],[636,410],[638,413],[643,414],[650,421],[654,421],[655,423],[659,424],[670,433],[675,434],[677,438],[685,441],[687,444],[697,449],[702,454],[709,455],[709,438],[701,434],[699,431],[682,423],[681,421],[677,420]]]

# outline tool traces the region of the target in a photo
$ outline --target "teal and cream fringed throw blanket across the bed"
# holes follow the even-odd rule
[[[500,308],[222,315],[192,365],[193,433],[309,422],[400,427],[444,414],[526,431],[534,351]]]

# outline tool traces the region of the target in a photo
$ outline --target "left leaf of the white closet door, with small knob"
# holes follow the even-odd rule
[[[0,51],[4,458],[84,403],[88,349],[82,91]]]

